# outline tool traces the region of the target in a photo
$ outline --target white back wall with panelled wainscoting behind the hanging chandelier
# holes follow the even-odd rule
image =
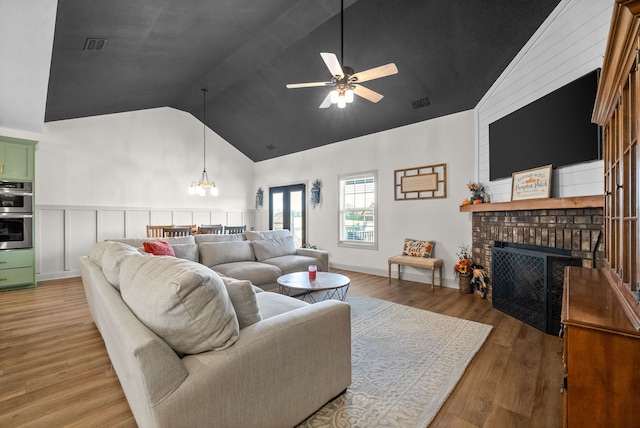
[[[78,274],[98,240],[147,224],[254,226],[253,162],[207,128],[218,197],[187,195],[203,168],[202,123],[158,108],[45,124],[36,151],[38,280]]]

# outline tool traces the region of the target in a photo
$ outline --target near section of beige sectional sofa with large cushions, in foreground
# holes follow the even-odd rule
[[[140,427],[291,427],[351,382],[347,303],[307,304],[120,242],[96,244],[80,269]]]

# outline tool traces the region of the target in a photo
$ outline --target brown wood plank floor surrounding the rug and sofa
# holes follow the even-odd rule
[[[349,294],[493,325],[431,427],[561,427],[562,341],[457,290],[334,270]],[[0,292],[0,427],[134,427],[79,278]]]

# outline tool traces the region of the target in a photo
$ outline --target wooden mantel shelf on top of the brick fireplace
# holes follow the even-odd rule
[[[573,196],[569,198],[544,198],[513,202],[492,202],[489,204],[462,205],[460,206],[460,212],[527,211],[602,207],[604,207],[603,195],[592,195]]]

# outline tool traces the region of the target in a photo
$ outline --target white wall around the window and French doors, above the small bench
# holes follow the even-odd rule
[[[471,243],[471,215],[460,213],[473,178],[473,111],[420,122],[256,163],[255,187],[265,189],[261,212],[268,224],[268,188],[322,181],[322,199],[308,208],[307,240],[330,252],[334,267],[387,275],[387,259],[402,251],[404,238],[436,241],[444,259],[445,284],[456,286],[453,265],[458,246]],[[394,170],[447,164],[447,198],[394,200]],[[378,171],[378,249],[338,246],[338,175]],[[308,197],[307,191],[307,197]],[[406,268],[407,279],[430,282],[424,271]],[[394,275],[396,275],[394,269]]]

